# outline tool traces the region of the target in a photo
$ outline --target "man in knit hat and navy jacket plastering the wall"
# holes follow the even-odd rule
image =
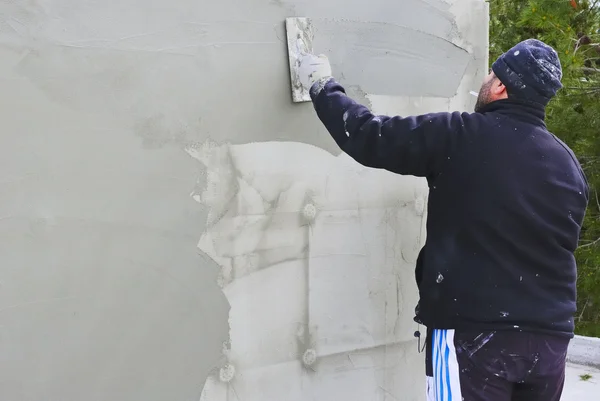
[[[326,57],[306,55],[300,74],[344,152],[427,178],[415,321],[428,328],[428,399],[559,400],[589,189],[544,123],[562,87],[554,49],[526,40],[500,56],[472,114],[375,116],[345,95]]]

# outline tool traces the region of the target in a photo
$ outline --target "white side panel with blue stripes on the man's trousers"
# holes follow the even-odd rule
[[[462,401],[454,330],[433,330],[433,377],[427,378],[427,401]]]

